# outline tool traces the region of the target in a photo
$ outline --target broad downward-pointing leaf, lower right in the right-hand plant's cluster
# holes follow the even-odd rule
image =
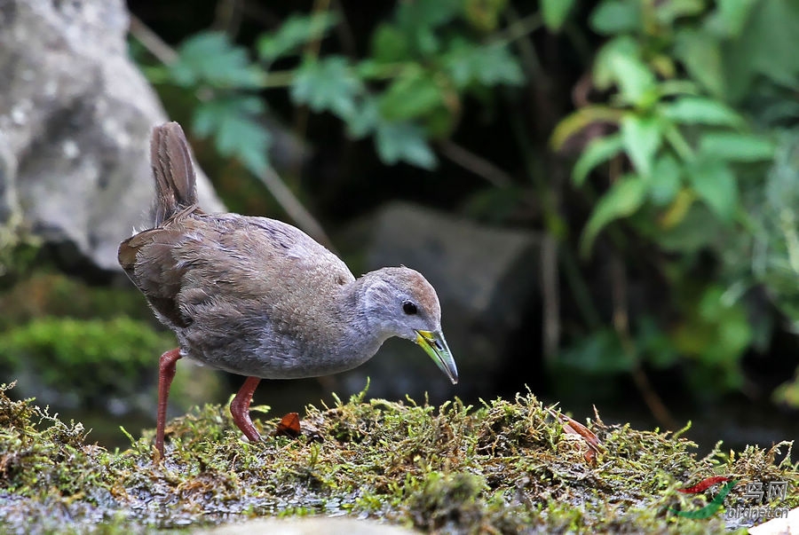
[[[688,182],[700,199],[725,223],[732,221],[739,206],[735,175],[724,161],[700,160],[688,169]]]

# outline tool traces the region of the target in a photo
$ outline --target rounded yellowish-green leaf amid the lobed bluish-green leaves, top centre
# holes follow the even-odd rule
[[[444,104],[444,95],[430,73],[407,68],[380,98],[380,112],[390,122],[406,121],[431,113]]]

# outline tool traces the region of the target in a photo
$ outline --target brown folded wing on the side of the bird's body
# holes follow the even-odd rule
[[[297,228],[264,217],[190,216],[123,241],[120,264],[160,315],[187,327],[210,309],[296,307],[354,279]]]

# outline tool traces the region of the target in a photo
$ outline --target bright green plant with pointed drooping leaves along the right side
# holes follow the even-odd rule
[[[799,183],[768,171],[775,155],[784,162],[785,149],[756,114],[740,112],[748,90],[757,90],[755,72],[767,79],[757,80],[762,85],[799,85],[795,59],[774,49],[797,23],[799,12],[787,4],[720,2],[708,9],[698,2],[605,0],[590,25],[608,37],[591,68],[595,90],[606,97],[567,116],[551,137],[559,149],[591,125],[610,125],[589,141],[572,171],[581,188],[589,188],[592,173],[607,181],[582,232],[581,253],[588,256],[600,233],[623,220],[631,232],[679,255],[664,267],[680,311],[668,327],[668,352],[696,359],[691,370],[702,389],[742,385],[738,363],[758,327],[749,319],[748,288],[773,288],[780,309],[799,319],[795,300],[785,299],[795,295],[795,278],[779,284],[779,270],[757,269],[745,258],[759,250],[760,265],[794,271],[793,241],[784,238],[795,233],[787,200]],[[748,43],[745,56],[741,43]],[[788,138],[796,133],[786,134],[783,146]],[[780,166],[782,173],[789,168]],[[715,279],[697,291],[701,251],[712,251],[720,264]],[[645,348],[637,334],[631,342]],[[629,366],[647,358],[646,350],[635,353]]]

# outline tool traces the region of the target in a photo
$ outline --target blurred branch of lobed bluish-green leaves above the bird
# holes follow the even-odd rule
[[[400,2],[392,19],[375,29],[366,59],[320,55],[310,46],[336,26],[333,12],[296,14],[259,35],[257,59],[224,33],[200,32],[178,47],[177,61],[146,73],[156,83],[193,90],[194,132],[213,137],[220,154],[256,175],[269,165],[271,142],[260,121],[267,110],[260,90],[275,88],[288,89],[297,106],[333,114],[352,138],[373,138],[384,163],[433,169],[431,141],[455,130],[463,98],[525,81],[507,40],[453,31],[494,30],[504,3],[487,5],[475,20],[460,1]],[[273,70],[291,60],[296,67]]]

